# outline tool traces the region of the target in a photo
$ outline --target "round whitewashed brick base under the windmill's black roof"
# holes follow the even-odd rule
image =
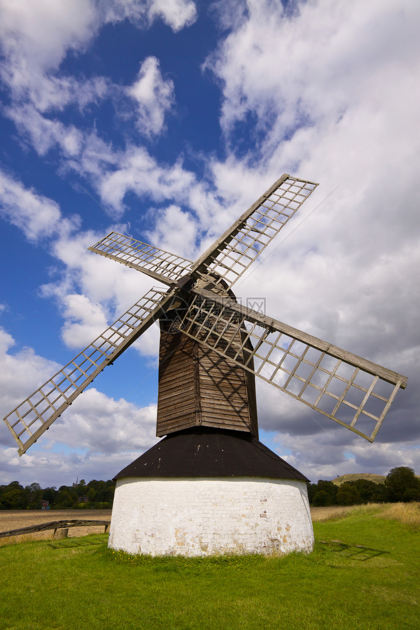
[[[291,479],[156,479],[116,482],[112,549],[150,556],[312,551],[306,483]]]

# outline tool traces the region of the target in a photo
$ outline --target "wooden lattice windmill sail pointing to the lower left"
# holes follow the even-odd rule
[[[23,455],[74,399],[162,313],[173,292],[151,289],[91,345],[11,411],[4,421]]]

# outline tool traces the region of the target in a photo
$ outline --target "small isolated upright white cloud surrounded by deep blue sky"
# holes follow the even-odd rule
[[[137,128],[141,134],[161,133],[165,112],[173,105],[173,91],[173,81],[164,81],[156,57],[147,57],[135,82],[127,90],[128,95],[137,101]]]

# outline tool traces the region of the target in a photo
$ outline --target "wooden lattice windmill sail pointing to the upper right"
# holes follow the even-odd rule
[[[236,282],[277,236],[318,184],[282,175],[194,263],[195,275]]]

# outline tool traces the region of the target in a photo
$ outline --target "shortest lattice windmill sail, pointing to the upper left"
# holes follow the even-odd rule
[[[191,260],[169,251],[136,241],[130,236],[110,232],[108,236],[89,247],[96,254],[146,273],[169,286],[191,271]]]

